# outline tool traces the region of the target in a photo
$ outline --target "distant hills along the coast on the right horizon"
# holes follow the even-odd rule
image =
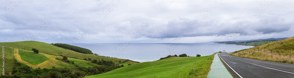
[[[250,42],[250,41],[264,41],[264,40],[280,41],[280,40],[284,40],[284,39],[288,39],[288,38],[285,37],[285,38],[252,39],[252,40],[210,41],[210,42],[207,42],[207,43],[213,42],[213,43],[225,43],[225,44],[240,44],[240,43]]]

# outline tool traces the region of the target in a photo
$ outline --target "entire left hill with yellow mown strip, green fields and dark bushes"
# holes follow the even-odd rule
[[[78,53],[38,41],[4,42],[0,46],[5,49],[5,71],[12,73],[0,75],[1,78],[78,78],[115,70],[120,67],[118,61],[123,61],[125,65],[137,63],[127,59]],[[34,53],[32,48],[38,49],[40,53]],[[67,60],[61,60],[61,55],[67,56]],[[81,60],[83,58],[104,59],[111,65],[98,65]],[[117,64],[114,65],[111,61]]]

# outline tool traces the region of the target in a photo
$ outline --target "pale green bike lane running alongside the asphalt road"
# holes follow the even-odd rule
[[[221,62],[218,54],[214,55],[210,68],[211,70],[208,72],[207,78],[233,78]]]

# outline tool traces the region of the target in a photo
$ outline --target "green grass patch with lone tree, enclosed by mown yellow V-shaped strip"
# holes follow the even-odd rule
[[[46,60],[49,60],[46,56],[42,54],[36,54],[34,52],[30,51],[24,51],[24,50],[19,50],[19,55],[21,56],[21,60],[24,60],[26,62],[29,62],[33,65],[38,65],[40,63],[43,63]]]

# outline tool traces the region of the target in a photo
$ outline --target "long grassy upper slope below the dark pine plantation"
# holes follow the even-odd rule
[[[39,50],[40,53],[46,53],[46,54],[56,55],[56,56],[60,56],[62,54],[63,56],[74,57],[79,59],[83,59],[83,58],[92,58],[96,60],[104,59],[104,60],[111,60],[114,63],[118,63],[118,61],[126,60],[126,59],[118,59],[118,58],[108,58],[108,57],[97,56],[93,54],[78,53],[75,51],[71,51],[68,49],[60,48],[48,43],[38,42],[38,41],[4,42],[4,43],[0,43],[0,45],[5,47],[23,49],[26,51],[31,51],[32,48],[36,48]],[[135,63],[136,62],[131,62],[131,64],[135,64]]]

